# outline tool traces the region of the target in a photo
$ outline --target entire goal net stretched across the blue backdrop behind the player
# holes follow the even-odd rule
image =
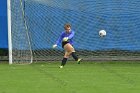
[[[75,30],[74,47],[84,60],[140,60],[138,0],[9,1],[12,63],[61,60],[61,45],[52,45],[65,23]]]

